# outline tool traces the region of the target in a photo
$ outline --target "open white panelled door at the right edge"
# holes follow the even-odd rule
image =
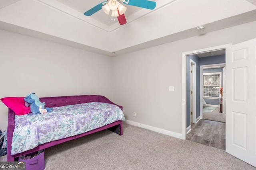
[[[256,166],[256,39],[226,48],[226,152]]]

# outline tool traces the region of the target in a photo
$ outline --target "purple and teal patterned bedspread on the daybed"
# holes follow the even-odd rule
[[[118,120],[124,121],[122,110],[116,105],[101,102],[53,107],[52,112],[39,115],[15,115],[11,155]]]

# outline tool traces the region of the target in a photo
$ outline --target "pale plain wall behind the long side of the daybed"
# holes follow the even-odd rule
[[[112,58],[0,29],[0,98],[98,94],[113,99]],[[0,129],[8,108],[0,102]]]

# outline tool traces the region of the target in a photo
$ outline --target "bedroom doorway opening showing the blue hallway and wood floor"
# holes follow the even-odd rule
[[[224,123],[221,113],[222,107],[220,107],[220,102],[222,105],[222,98],[220,98],[220,89],[223,82],[222,68],[225,66],[225,58],[225,49],[186,56],[186,60],[190,61],[190,66],[187,65],[186,68],[191,70],[191,73],[186,75],[186,80],[190,80],[190,86],[186,86],[186,91],[188,91],[188,88],[191,91],[191,94],[186,94],[191,96],[191,118],[187,117],[187,119],[191,120],[191,123],[187,124],[189,131],[187,131],[186,139],[222,150],[226,149],[226,123]],[[197,61],[197,63],[192,59]],[[196,64],[200,65],[200,69],[196,70],[193,68]],[[198,83],[200,91],[197,91],[197,95],[196,90],[193,88],[196,76],[197,79],[200,79],[200,83]],[[194,106],[194,96],[198,96],[199,105],[197,107],[200,107],[197,113],[196,106]],[[203,101],[203,104],[200,104],[200,100]],[[200,112],[201,108],[202,113]],[[189,108],[186,111],[189,112]],[[198,118],[197,121],[195,121],[196,118]]]

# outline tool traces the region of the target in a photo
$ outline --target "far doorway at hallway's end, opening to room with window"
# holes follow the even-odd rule
[[[202,85],[200,98],[203,101],[201,106],[203,111],[200,115],[203,119],[226,122],[223,111],[225,108],[224,96],[221,92],[221,89],[225,90],[225,65],[225,63],[220,63],[200,66],[200,84]]]

